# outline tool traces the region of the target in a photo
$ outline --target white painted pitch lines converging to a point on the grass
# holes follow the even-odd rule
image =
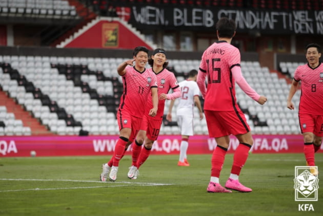
[[[82,181],[82,180],[55,180],[55,179],[0,179],[2,181],[40,181],[40,182],[86,182],[86,183],[100,183],[106,184],[105,186],[92,186],[92,187],[65,187],[65,188],[30,188],[21,190],[0,190],[0,192],[17,192],[17,191],[28,191],[28,190],[67,190],[67,189],[89,189],[89,188],[103,188],[103,187],[127,187],[130,185],[138,186],[164,186],[171,184],[161,183],[140,183],[140,182],[101,182],[101,181]],[[114,185],[119,184],[119,185]]]

